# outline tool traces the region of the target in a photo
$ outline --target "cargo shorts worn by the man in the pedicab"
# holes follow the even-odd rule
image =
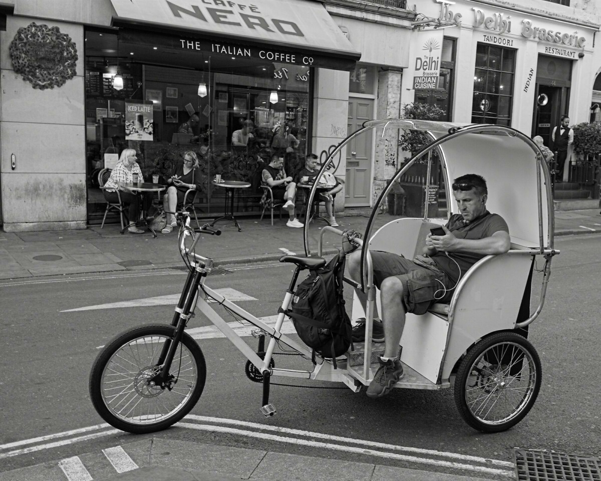
[[[406,259],[389,252],[370,251],[374,284],[378,289],[387,277],[396,277],[403,284],[403,305],[406,312],[424,314],[435,302],[449,302],[453,296],[444,272],[435,265]]]

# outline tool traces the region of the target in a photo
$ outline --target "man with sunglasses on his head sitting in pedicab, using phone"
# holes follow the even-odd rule
[[[444,235],[426,236],[422,256],[409,260],[397,254],[370,251],[373,280],[380,289],[382,323],[373,323],[373,340],[385,342],[380,367],[367,388],[367,396],[388,394],[403,377],[399,343],[405,314],[424,314],[434,302],[450,302],[463,274],[489,254],[510,248],[509,229],[498,214],[486,210],[486,180],[477,174],[457,177],[453,195],[459,214],[451,215]],[[360,279],[361,251],[350,254],[349,273]],[[365,293],[357,291],[365,309]],[[353,341],[365,339],[365,320],[353,328]]]

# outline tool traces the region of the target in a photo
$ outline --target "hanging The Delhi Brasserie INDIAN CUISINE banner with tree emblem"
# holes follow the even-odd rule
[[[423,30],[415,32],[414,35],[411,39],[410,55],[413,69],[412,88],[437,88],[441,72],[442,30]]]

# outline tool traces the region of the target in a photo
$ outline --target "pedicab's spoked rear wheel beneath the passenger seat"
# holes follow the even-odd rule
[[[455,403],[466,423],[499,432],[519,423],[540,390],[534,346],[515,332],[498,332],[469,349],[457,370]]]

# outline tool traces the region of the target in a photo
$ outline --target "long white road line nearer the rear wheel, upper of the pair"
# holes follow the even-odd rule
[[[341,443],[359,444],[361,446],[380,447],[383,449],[391,449],[391,450],[395,450],[395,451],[406,451],[406,452],[427,454],[427,455],[433,455],[433,456],[444,456],[446,458],[461,459],[462,461],[476,461],[476,462],[481,462],[481,463],[486,463],[486,464],[495,464],[495,465],[499,465],[499,466],[506,466],[508,468],[513,468],[513,462],[508,462],[508,461],[500,461],[497,459],[481,458],[480,456],[460,455],[459,453],[450,453],[447,451],[436,451],[434,449],[423,449],[423,448],[419,448],[419,447],[409,447],[409,446],[397,446],[396,444],[379,443],[377,441],[357,440],[354,438],[334,436],[331,434],[324,434],[321,432],[304,431],[301,429],[291,429],[290,427],[270,426],[269,424],[258,424],[258,423],[251,423],[249,421],[239,421],[236,419],[227,419],[227,418],[219,418],[219,417],[199,416],[197,414],[188,414],[185,417],[185,419],[193,419],[195,421],[204,421],[204,422],[208,422],[208,423],[234,424],[236,426],[254,427],[255,429],[263,429],[263,430],[276,431],[276,432],[287,433],[287,434],[295,434],[295,435],[305,436],[305,437],[309,437],[309,438],[318,438],[318,439],[325,439],[325,440],[330,440],[330,441],[340,441]]]

